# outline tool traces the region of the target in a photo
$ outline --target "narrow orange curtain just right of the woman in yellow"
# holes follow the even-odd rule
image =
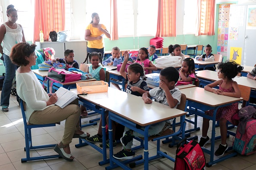
[[[110,0],[110,40],[117,40],[118,26],[117,26],[117,1]]]

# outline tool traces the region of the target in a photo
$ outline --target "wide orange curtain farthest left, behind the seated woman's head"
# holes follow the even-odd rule
[[[65,29],[65,0],[35,0],[34,42],[39,41],[40,30],[48,41],[50,31]]]

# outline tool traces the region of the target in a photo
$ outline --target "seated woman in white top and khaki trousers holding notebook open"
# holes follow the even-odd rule
[[[78,99],[61,109],[54,105],[58,100],[56,94],[47,94],[41,83],[31,71],[30,67],[36,64],[35,44],[18,43],[13,46],[10,59],[20,66],[16,71],[17,94],[25,101],[26,118],[31,124],[49,124],[66,120],[62,140],[55,146],[62,158],[73,161],[69,143],[72,138],[85,139],[90,134],[84,133],[79,127],[81,114]]]

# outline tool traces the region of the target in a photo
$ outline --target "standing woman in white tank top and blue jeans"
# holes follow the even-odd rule
[[[1,107],[3,112],[9,111],[12,81],[17,68],[16,64],[12,64],[9,55],[15,44],[26,42],[22,26],[16,23],[18,15],[13,5],[7,6],[6,15],[8,21],[0,26],[0,53],[3,55],[3,64],[5,66],[5,79],[1,93]],[[2,42],[3,46],[1,46]]]

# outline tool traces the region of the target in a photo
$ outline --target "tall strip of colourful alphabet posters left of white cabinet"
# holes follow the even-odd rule
[[[226,3],[219,5],[219,21],[217,35],[217,54],[227,57],[228,52],[228,24],[230,5],[234,3]]]

